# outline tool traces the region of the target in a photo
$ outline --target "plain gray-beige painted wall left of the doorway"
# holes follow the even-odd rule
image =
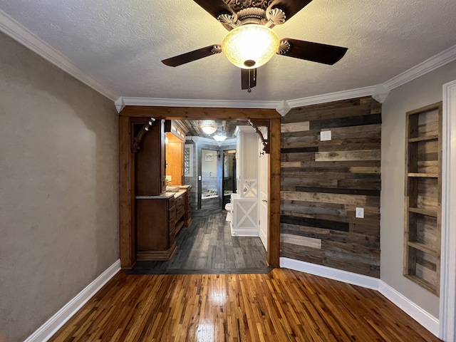
[[[0,336],[15,342],[119,257],[118,115],[3,33],[0,46]]]

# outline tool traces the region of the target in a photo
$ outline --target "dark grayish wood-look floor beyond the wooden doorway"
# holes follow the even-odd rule
[[[199,211],[204,212],[204,211]],[[193,217],[177,234],[170,261],[137,261],[128,274],[267,273],[266,250],[259,237],[232,237],[226,212],[209,211]]]

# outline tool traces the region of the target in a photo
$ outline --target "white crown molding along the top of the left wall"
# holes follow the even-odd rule
[[[29,48],[34,53],[37,53],[39,56],[46,59],[46,61],[53,63],[54,66],[61,68],[63,71],[66,71],[66,73],[69,73],[82,83],[85,83],[90,88],[93,88],[93,90],[97,91],[101,95],[104,95],[113,101],[119,98],[119,95],[117,95],[113,90],[103,86],[103,84],[96,81],[95,78],[81,71],[81,69],[71,63],[66,56],[63,56],[48,43],[43,41],[41,38],[38,38],[38,36],[31,33],[31,31],[28,31],[27,28],[12,19],[11,16],[4,13],[4,11],[1,11],[1,9],[0,30],[13,38],[15,41],[18,41],[22,45],[26,46],[26,48]]]

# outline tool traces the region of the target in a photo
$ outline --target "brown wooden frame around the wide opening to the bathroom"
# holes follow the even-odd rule
[[[266,262],[278,267],[280,257],[280,127],[281,116],[275,109],[154,107],[130,105],[119,113],[119,247],[120,264],[131,269],[136,262],[135,241],[135,156],[131,151],[132,118],[165,120],[268,119],[269,194],[268,252]]]

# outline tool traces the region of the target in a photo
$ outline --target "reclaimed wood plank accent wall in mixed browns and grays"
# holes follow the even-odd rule
[[[320,140],[323,130],[331,140]],[[380,277],[380,138],[371,97],[282,118],[281,257]]]

